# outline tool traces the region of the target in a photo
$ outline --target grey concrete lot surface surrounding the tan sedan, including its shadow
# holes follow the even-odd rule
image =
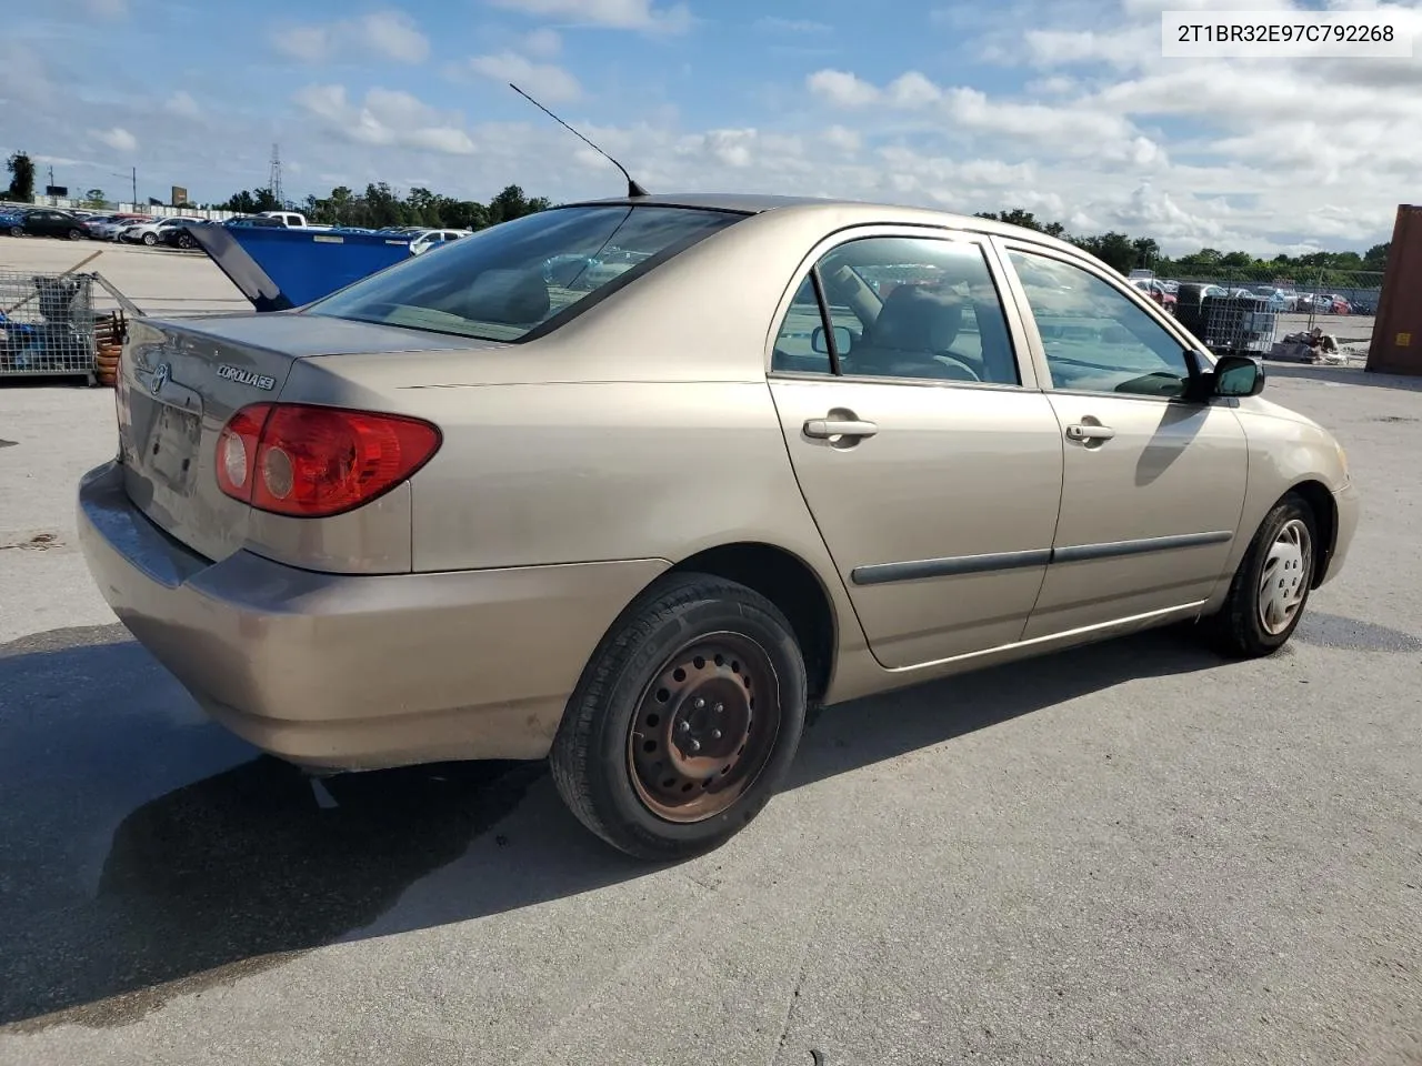
[[[205,722],[74,544],[111,394],[0,387],[0,1063],[1422,1062],[1422,382],[1270,375],[1365,505],[1288,648],[829,709],[667,868],[536,765],[313,787]]]

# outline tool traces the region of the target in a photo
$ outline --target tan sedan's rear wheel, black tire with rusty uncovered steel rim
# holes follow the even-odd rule
[[[747,662],[720,654],[712,662],[695,654],[712,647],[742,647],[748,650]],[[690,679],[675,665],[678,657],[688,655],[700,671]],[[687,687],[660,705],[661,721],[653,701],[667,699],[668,694],[664,687],[653,687],[674,677],[671,671]],[[752,684],[752,672],[766,671],[765,678]],[[694,721],[712,711],[722,712],[720,696],[711,695],[714,706],[705,708],[701,692],[727,692],[727,704],[751,694],[745,706],[731,706],[724,716],[731,739],[721,739],[721,731],[710,732],[704,721]],[[755,692],[761,692],[761,708],[755,705]],[[670,576],[623,613],[583,671],[549,755],[553,782],[579,822],[636,858],[663,861],[710,851],[744,829],[779,789],[805,728],[806,694],[805,659],[791,624],[775,604],[720,577]],[[774,699],[775,706],[766,706],[766,699]],[[738,714],[745,715],[744,733]],[[711,725],[721,721],[718,716]],[[701,750],[700,742],[687,739],[697,736],[708,738],[705,756],[687,753],[685,745]],[[711,741],[712,736],[717,739]],[[643,755],[657,752],[658,742],[665,745],[664,753]],[[734,755],[711,750],[712,745],[737,742],[741,748]],[[644,763],[653,758],[670,760],[671,768],[656,769],[665,765],[656,762],[648,783]],[[722,759],[732,765],[717,773],[715,763]],[[690,787],[700,773],[687,776],[683,768],[707,762],[712,763],[711,776],[700,782],[700,789]],[[729,773],[732,769],[735,773]],[[675,776],[658,780],[663,773]],[[663,786],[667,792],[661,792]],[[674,799],[667,803],[680,803],[675,797],[683,789],[687,807],[663,806],[670,816],[658,813],[660,797],[670,795]],[[698,803],[710,807],[704,817],[695,817]],[[714,809],[718,803],[728,806]],[[688,816],[695,820],[685,820]]]

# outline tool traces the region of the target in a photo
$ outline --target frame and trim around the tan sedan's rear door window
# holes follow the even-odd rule
[[[1018,381],[1010,384],[1000,381],[958,381],[954,378],[893,378],[870,374],[835,374],[833,365],[838,364],[838,352],[835,352],[832,370],[828,374],[818,371],[776,370],[774,365],[775,340],[779,337],[781,327],[785,324],[785,317],[789,314],[789,308],[795,303],[795,294],[799,293],[801,286],[803,286],[812,276],[819,276],[819,263],[826,254],[850,242],[870,240],[873,237],[944,240],[957,244],[973,244],[977,247],[983,256],[983,262],[987,264],[988,279],[993,281],[993,289],[997,293],[998,306],[1003,308],[1003,321],[1007,327],[1008,344],[1012,348],[1012,361],[1017,365]],[[795,273],[791,276],[789,283],[775,307],[775,316],[771,318],[765,337],[765,377],[772,381],[848,381],[876,385],[1012,389],[1027,392],[1041,391],[1041,374],[1037,367],[1035,355],[1030,347],[1031,337],[1025,328],[1027,323],[1022,318],[1015,294],[1010,287],[1014,280],[1015,277],[1007,269],[1000,250],[993,243],[991,235],[987,233],[978,233],[957,226],[916,225],[902,222],[865,222],[832,230],[815,242],[809,252],[806,252],[805,257],[795,269]],[[829,347],[833,350],[833,323],[829,318],[829,307],[826,306],[822,283],[816,286],[816,303],[819,304],[820,325],[825,328],[826,337],[829,338]],[[1032,328],[1035,330],[1035,325]]]

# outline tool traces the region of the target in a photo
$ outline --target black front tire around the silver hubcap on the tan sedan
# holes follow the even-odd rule
[[[1297,607],[1287,624],[1267,625],[1261,610],[1264,569],[1270,563],[1270,551],[1280,540],[1285,527],[1301,523],[1307,530],[1307,546],[1303,559],[1287,559],[1276,564],[1281,590],[1297,591]],[[1297,526],[1294,526],[1297,529]],[[1250,542],[1249,551],[1240,560],[1230,591],[1220,611],[1202,621],[1210,644],[1230,658],[1261,658],[1273,655],[1294,635],[1300,618],[1308,607],[1308,593],[1313,586],[1314,567],[1318,559],[1318,519],[1308,503],[1288,493],[1264,516],[1258,532]],[[1271,578],[1274,580],[1274,578]]]

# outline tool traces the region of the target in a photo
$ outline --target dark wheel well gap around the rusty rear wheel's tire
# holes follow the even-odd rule
[[[825,695],[835,664],[835,611],[819,577],[802,559],[771,544],[722,544],[681,560],[671,571],[724,577],[779,607],[805,657],[811,699]]]

